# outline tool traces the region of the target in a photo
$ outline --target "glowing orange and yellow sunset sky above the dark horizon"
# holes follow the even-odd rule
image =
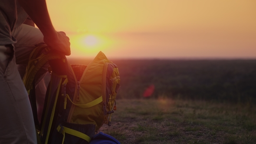
[[[69,57],[256,58],[256,0],[46,0]]]

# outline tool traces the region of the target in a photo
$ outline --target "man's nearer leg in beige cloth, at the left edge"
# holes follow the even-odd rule
[[[0,46],[0,144],[36,144],[30,101],[18,72],[13,46]]]

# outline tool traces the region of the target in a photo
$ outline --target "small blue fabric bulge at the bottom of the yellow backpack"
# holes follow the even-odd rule
[[[103,132],[99,132],[95,136],[92,137],[92,141],[89,144],[121,144],[114,137],[104,134]]]

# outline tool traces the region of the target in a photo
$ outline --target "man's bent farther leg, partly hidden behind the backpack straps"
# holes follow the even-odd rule
[[[12,35],[17,39],[17,43],[15,44],[16,63],[20,64],[18,65],[18,70],[23,78],[30,53],[36,47],[36,44],[43,43],[43,34],[39,29],[33,26],[22,24],[13,30]],[[44,71],[48,72],[47,67]],[[45,83],[49,82],[50,75],[47,74],[42,79],[43,80],[36,81],[38,82],[36,83],[36,101],[39,122],[41,120],[43,102],[46,95],[47,85]]]

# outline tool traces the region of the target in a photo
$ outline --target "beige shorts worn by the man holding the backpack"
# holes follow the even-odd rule
[[[43,34],[23,24],[12,36],[16,44],[0,46],[0,144],[36,144],[30,101],[16,64],[27,63],[35,44],[43,42]]]

